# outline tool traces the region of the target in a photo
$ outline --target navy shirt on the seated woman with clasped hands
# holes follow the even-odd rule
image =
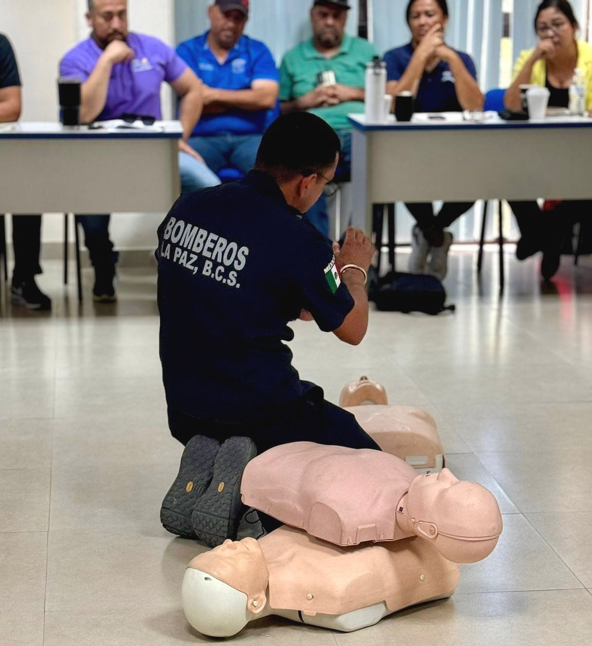
[[[398,81],[403,76],[414,51],[413,44],[409,43],[403,47],[391,49],[384,55],[388,81]],[[477,72],[473,59],[464,52],[456,52],[456,54],[460,56],[469,74],[476,79]],[[448,63],[440,61],[431,72],[424,72],[415,98],[415,111],[462,112],[456,96],[454,76]]]

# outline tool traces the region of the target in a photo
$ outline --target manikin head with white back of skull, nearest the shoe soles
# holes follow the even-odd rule
[[[268,580],[265,556],[254,538],[224,541],[196,556],[185,570],[187,621],[210,637],[236,635],[265,609]]]

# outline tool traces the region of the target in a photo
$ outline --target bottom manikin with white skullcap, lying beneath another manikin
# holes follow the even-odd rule
[[[458,576],[458,565],[419,539],[342,548],[283,526],[194,558],[183,579],[183,610],[212,637],[235,635],[270,614],[349,632],[451,596]]]

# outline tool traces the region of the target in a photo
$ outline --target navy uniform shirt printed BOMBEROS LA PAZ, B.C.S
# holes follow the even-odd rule
[[[277,183],[243,180],[179,198],[158,229],[160,358],[170,408],[240,423],[312,387],[284,341],[302,309],[325,332],[354,301],[331,242]]]

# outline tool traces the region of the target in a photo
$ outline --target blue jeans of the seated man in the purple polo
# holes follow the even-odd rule
[[[179,152],[179,174],[183,195],[220,183],[218,177],[207,166],[187,152]],[[85,245],[90,262],[95,269],[106,273],[112,272],[117,262],[117,253],[114,253],[113,243],[109,238],[109,220],[108,214],[78,216],[78,221],[85,231]]]

